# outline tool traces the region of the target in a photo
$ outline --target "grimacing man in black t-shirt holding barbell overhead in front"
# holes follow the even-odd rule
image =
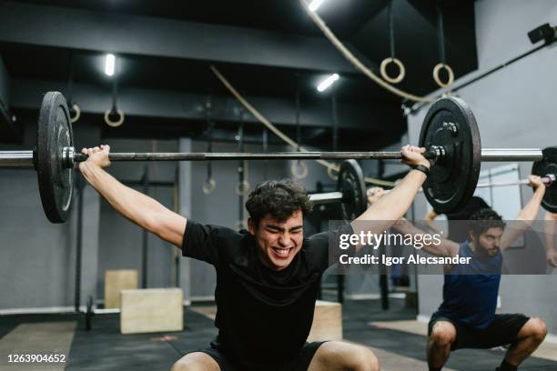
[[[208,348],[183,356],[175,371],[379,369],[365,346],[306,343],[320,278],[331,264],[329,241],[359,234],[354,224],[304,238],[303,216],[310,209],[306,191],[292,181],[267,181],[248,196],[249,231],[201,225],[106,173],[109,150],[108,145],[83,150],[88,158],[79,169],[89,184],[122,216],[217,270],[218,337]],[[403,162],[415,169],[356,219],[385,221],[374,224],[371,233],[389,227],[410,207],[430,168],[424,151],[403,147]],[[358,249],[352,246],[351,253]]]

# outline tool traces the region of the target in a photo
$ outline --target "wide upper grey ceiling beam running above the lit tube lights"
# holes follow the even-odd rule
[[[357,73],[324,36],[10,1],[0,2],[0,42]]]

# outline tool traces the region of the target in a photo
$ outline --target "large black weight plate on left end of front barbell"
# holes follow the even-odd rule
[[[48,92],[38,117],[35,169],[45,214],[52,223],[64,223],[72,205],[74,170],[62,164],[62,149],[73,146],[66,98]]]

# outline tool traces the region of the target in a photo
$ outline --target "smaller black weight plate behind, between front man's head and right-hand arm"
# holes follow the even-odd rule
[[[340,211],[343,220],[354,220],[366,211],[366,184],[356,160],[346,160],[340,164],[337,191],[342,193]]]

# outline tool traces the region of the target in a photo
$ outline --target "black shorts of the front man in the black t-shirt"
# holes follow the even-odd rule
[[[302,346],[299,351],[298,356],[289,359],[286,363],[282,365],[268,365],[265,367],[266,370],[277,370],[277,371],[307,371],[311,359],[315,356],[319,346],[326,343],[325,341],[314,341],[312,343],[306,343]],[[243,371],[242,367],[237,365],[229,356],[224,352],[218,350],[217,348],[210,346],[204,349],[197,350],[197,352],[205,353],[206,355],[213,358],[220,367],[221,371]]]

